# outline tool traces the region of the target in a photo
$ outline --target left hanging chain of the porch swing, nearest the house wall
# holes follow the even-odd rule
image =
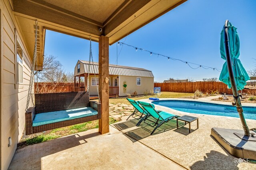
[[[28,107],[29,107],[29,103],[30,103],[30,98],[31,98],[31,94],[32,94],[32,86],[33,86],[34,75],[35,75],[35,73],[34,73],[34,71],[35,71],[35,63],[37,61],[36,60],[36,58],[37,58],[37,51],[36,51],[36,47],[37,47],[37,28],[38,28],[37,25],[38,25],[38,22],[36,20],[35,46],[34,46],[34,53],[33,53],[32,68],[31,68],[31,72],[30,72],[30,80],[29,80],[29,87],[28,87],[28,98],[27,98],[27,104],[26,104],[25,111],[28,111]]]

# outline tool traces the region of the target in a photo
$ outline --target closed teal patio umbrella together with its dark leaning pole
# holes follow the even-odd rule
[[[238,90],[242,90],[246,85],[246,81],[250,80],[246,70],[242,63],[238,59],[240,52],[240,41],[236,27],[234,27],[228,20],[221,31],[220,38],[220,54],[221,58],[226,60],[223,64],[222,71],[220,73],[220,81],[228,85],[228,88],[232,88],[235,103],[239,113],[242,126],[244,128],[244,135],[250,136],[250,131],[244,119],[242,104],[238,95]]]

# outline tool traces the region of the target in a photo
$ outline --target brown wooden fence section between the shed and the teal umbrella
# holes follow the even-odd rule
[[[154,83],[154,87],[161,87],[162,92],[182,92],[194,93],[200,90],[204,93],[216,91],[220,94],[232,94],[232,90],[228,90],[227,85],[222,82],[179,82],[179,83]]]

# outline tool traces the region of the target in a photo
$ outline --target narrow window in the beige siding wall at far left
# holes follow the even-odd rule
[[[16,72],[16,78],[17,78],[17,83],[23,83],[23,50],[21,48],[20,43],[17,41],[17,54],[16,54],[16,58],[17,58],[17,72]]]

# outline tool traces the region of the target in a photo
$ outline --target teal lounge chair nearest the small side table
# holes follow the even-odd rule
[[[156,126],[155,129],[152,131],[152,133],[150,135],[152,135],[156,131],[156,129],[158,127],[160,127],[163,123],[166,123],[166,122],[168,122],[168,121],[170,121],[172,119],[180,117],[178,115],[174,115],[172,113],[168,113],[168,112],[165,112],[165,111],[158,112],[158,111],[155,110],[155,106],[153,104],[149,104],[149,103],[145,103],[145,102],[140,102],[140,101],[138,101],[138,103],[140,104],[140,106],[142,106],[147,111],[147,115],[144,116],[140,120],[140,123],[142,121],[145,122],[145,120],[148,119],[149,116],[152,116],[154,119],[156,119],[155,122],[151,121],[150,119],[148,119],[149,121],[155,123],[153,126],[150,125],[150,124],[148,124],[148,125],[150,125],[152,127]],[[140,125],[140,123],[137,123],[136,126]]]

